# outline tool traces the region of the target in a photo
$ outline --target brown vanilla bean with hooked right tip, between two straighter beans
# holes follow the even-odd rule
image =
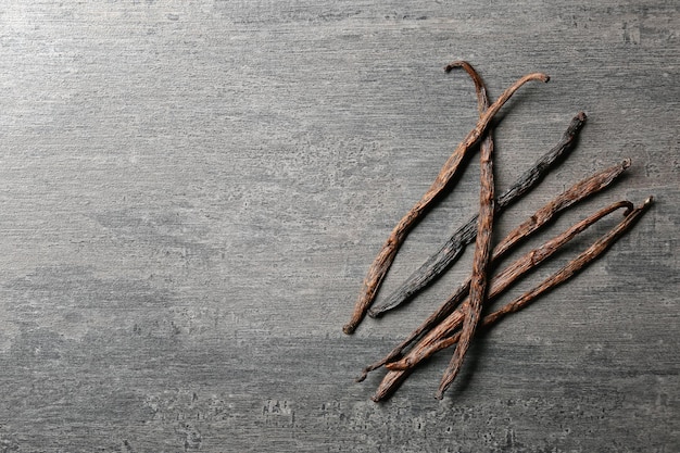
[[[569,240],[574,239],[578,234],[583,231],[593,223],[597,222],[600,218],[605,215],[612,213],[615,210],[626,207],[630,209],[632,205],[630,202],[618,202],[614,203],[597,213],[591,215],[590,217],[579,222],[574,225],[566,231],[556,236],[555,238],[549,240],[546,243],[541,246],[538,249],[530,251],[525,254],[513,264],[511,264],[507,268],[501,272],[498,276],[495,276],[491,281],[491,288],[489,291],[489,301],[498,298],[503,291],[505,291],[513,282],[515,282],[519,277],[525,275],[529,269],[537,266],[539,263],[554,254],[557,250],[559,250],[565,243]],[[464,304],[465,305],[465,304]],[[465,306],[461,306],[458,310],[449,315],[442,323],[440,323],[436,328],[430,330],[419,342],[418,344],[408,352],[408,354],[398,363],[388,364],[390,372],[382,379],[380,386],[376,394],[373,397],[374,401],[379,401],[383,399],[386,395],[391,394],[394,390],[393,386],[398,386],[401,383],[403,378],[399,376],[399,374],[407,373],[410,369],[415,367],[420,361],[430,356],[433,351],[438,348],[440,342],[445,338],[450,337],[452,332],[459,327],[461,323],[464,319],[464,313],[466,312]],[[455,377],[455,375],[454,375]],[[444,377],[450,383],[451,380],[449,375]],[[446,383],[448,386],[448,383]]]

